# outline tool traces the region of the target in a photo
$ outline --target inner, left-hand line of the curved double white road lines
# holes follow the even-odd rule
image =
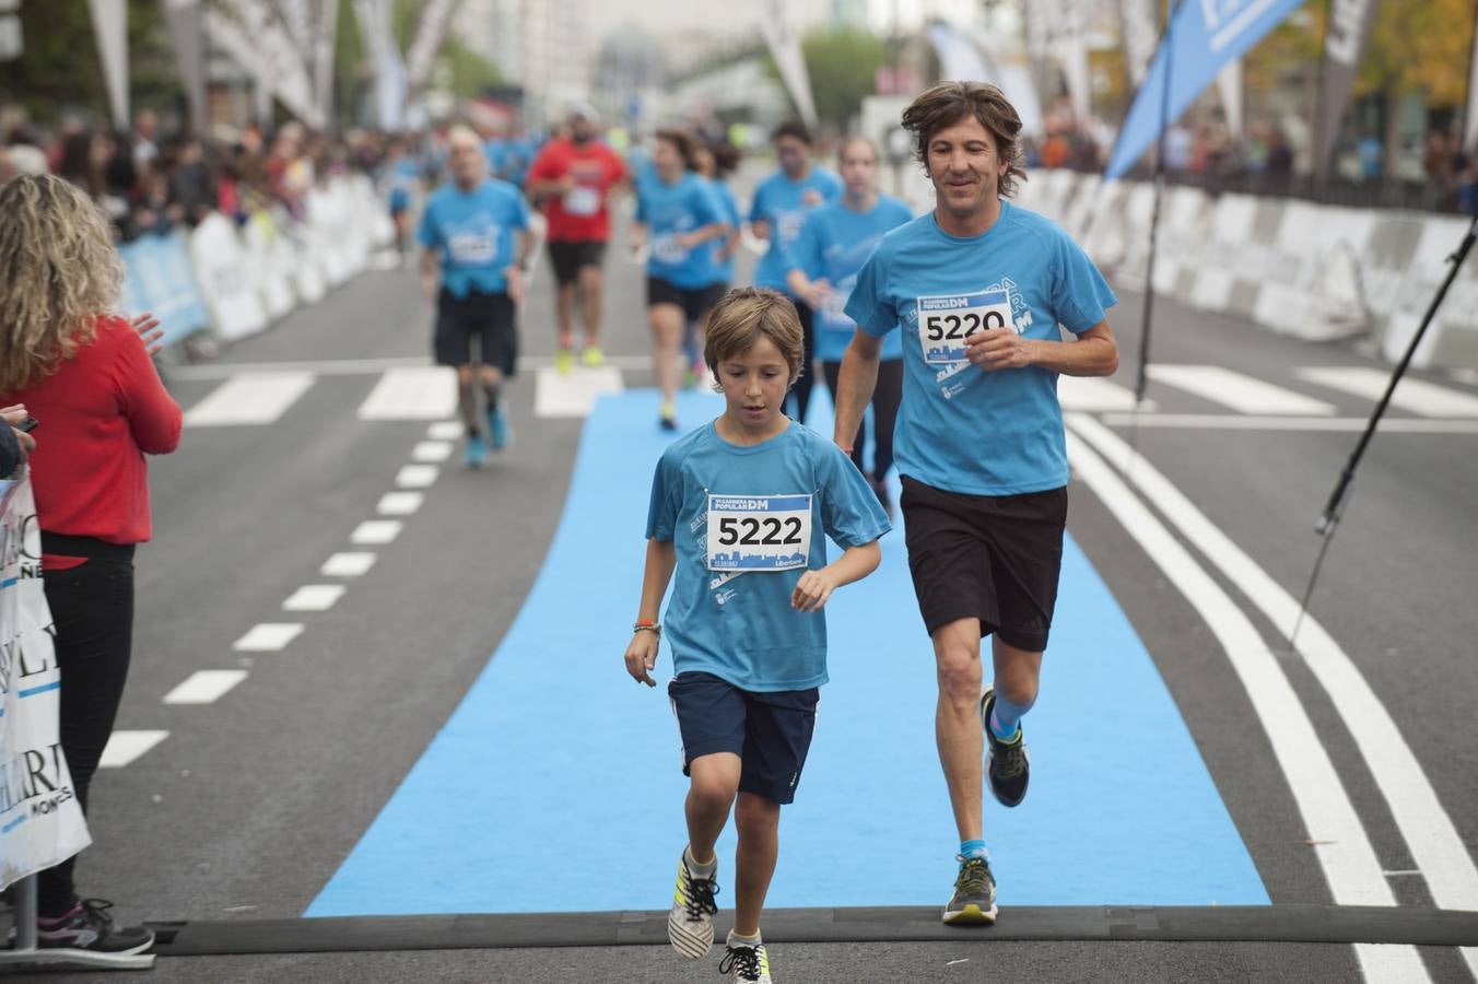
[[[1395,906],[1383,867],[1335,764],[1320,743],[1298,693],[1252,621],[1191,554],[1150,513],[1106,462],[1079,437],[1069,434],[1073,473],[1092,488],[1119,523],[1165,572],[1166,579],[1205,619],[1227,660],[1247,690],[1252,709],[1267,731],[1273,754],[1287,779],[1312,851],[1324,870],[1335,903]],[[1140,464],[1137,468],[1142,467]],[[1357,946],[1367,981],[1428,981],[1414,947]]]

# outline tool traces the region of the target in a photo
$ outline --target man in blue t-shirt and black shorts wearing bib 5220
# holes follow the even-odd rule
[[[950,923],[992,923],[996,885],[981,786],[1026,796],[1021,718],[1036,702],[1067,519],[1057,377],[1119,365],[1113,291],[1057,225],[1007,201],[1021,171],[1021,118],[999,89],[941,83],[903,112],[936,207],[882,238],[847,316],[837,443],[851,449],[878,377],[882,335],[903,332],[896,454],[909,569],[934,643],[939,758],[959,829]],[[1058,325],[1075,338],[1064,341]],[[993,635],[981,689],[980,640]],[[984,728],[984,737],[981,736]],[[989,762],[981,751],[989,740]]]

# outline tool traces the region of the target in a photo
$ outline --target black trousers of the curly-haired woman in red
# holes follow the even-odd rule
[[[46,539],[43,544],[55,550]],[[133,548],[101,553],[80,567],[43,575],[62,669],[62,752],[83,813],[98,759],[118,717],[133,652]],[[37,875],[37,912],[43,918],[64,916],[77,904],[74,861],[75,857],[68,858]]]

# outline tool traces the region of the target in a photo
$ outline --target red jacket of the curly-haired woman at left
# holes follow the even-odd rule
[[[101,318],[93,341],[28,390],[0,396],[38,421],[31,485],[41,530],[109,544],[149,539],[145,454],[180,443],[183,417],[123,318]],[[75,566],[65,560],[50,567]]]

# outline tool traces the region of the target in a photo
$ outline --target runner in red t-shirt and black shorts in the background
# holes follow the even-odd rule
[[[585,103],[571,109],[571,137],[550,140],[529,167],[528,192],[544,199],[550,264],[557,287],[556,365],[575,363],[575,301],[585,324],[585,365],[603,365],[600,352],[600,263],[610,238],[610,191],[627,179],[621,157],[599,139],[599,118]]]

